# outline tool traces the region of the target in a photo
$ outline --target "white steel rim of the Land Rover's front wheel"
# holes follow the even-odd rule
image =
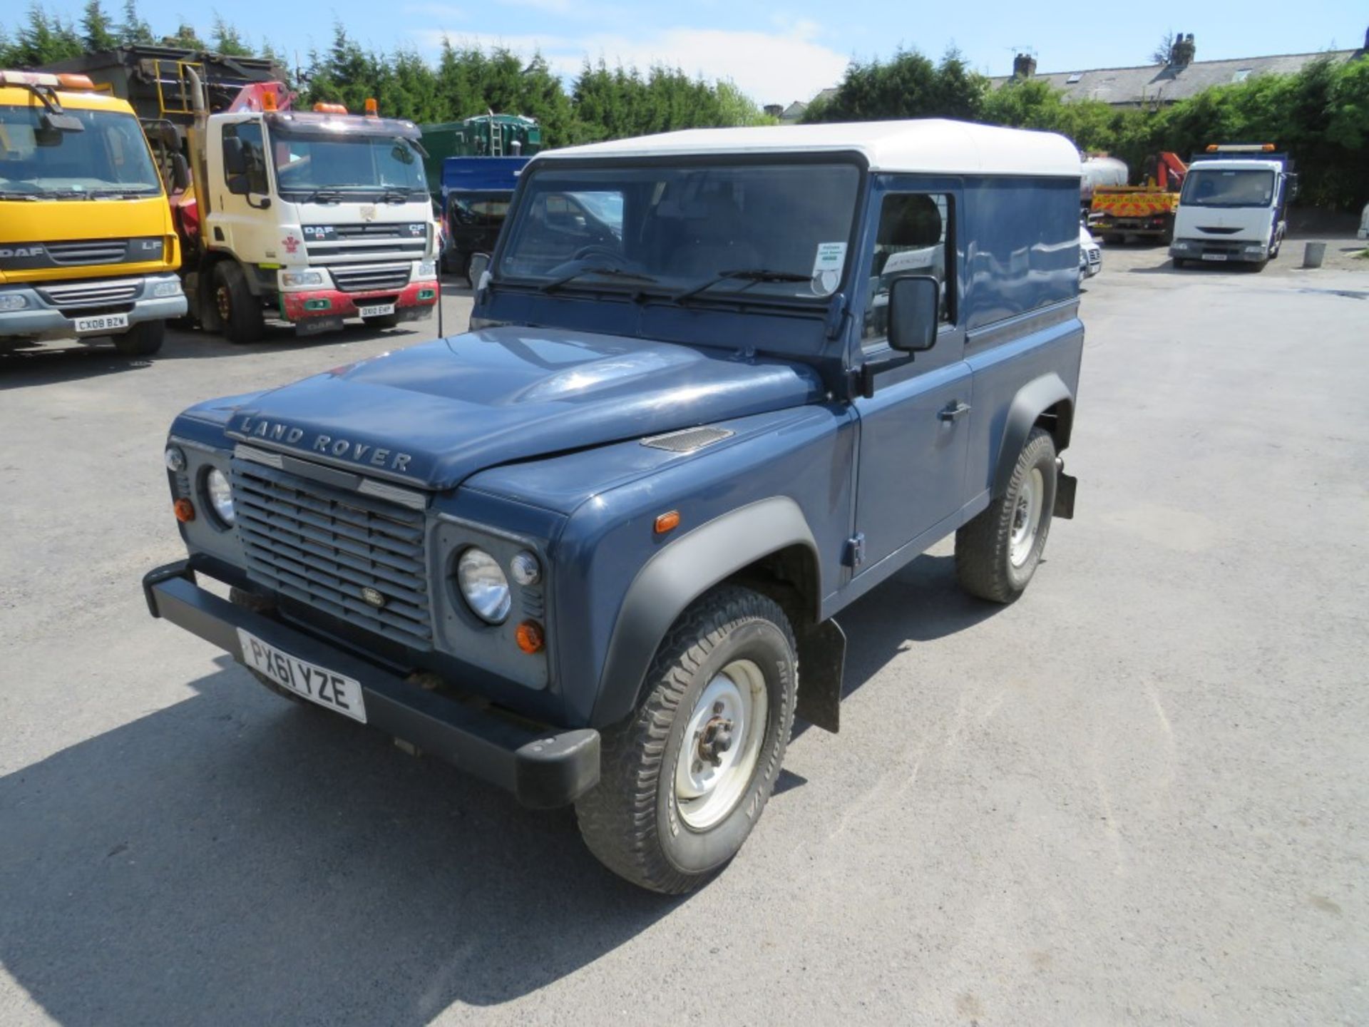
[[[741,801],[760,761],[768,712],[765,675],[750,660],[734,660],[704,687],[675,761],[675,807],[689,827],[705,831]]]

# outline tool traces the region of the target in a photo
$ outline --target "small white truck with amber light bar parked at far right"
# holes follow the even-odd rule
[[[1285,207],[1296,181],[1288,157],[1270,144],[1212,145],[1194,156],[1169,244],[1175,267],[1239,262],[1262,270],[1288,231]]]

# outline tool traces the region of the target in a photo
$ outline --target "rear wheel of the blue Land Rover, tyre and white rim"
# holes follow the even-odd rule
[[[956,533],[956,575],[971,596],[1012,603],[1023,594],[1050,531],[1055,505],[1055,442],[1032,429],[1008,489]]]

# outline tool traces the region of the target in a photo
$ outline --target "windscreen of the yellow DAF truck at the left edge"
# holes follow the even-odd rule
[[[0,197],[93,200],[162,192],[131,114],[67,108],[84,131],[44,125],[42,107],[0,105]]]

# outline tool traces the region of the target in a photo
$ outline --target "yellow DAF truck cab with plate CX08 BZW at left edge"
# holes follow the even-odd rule
[[[0,352],[74,337],[155,353],[186,312],[179,266],[133,108],[84,75],[0,71]]]

